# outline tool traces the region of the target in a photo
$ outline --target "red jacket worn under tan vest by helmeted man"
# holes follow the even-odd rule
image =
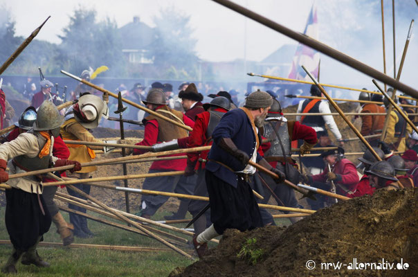
[[[182,118],[185,125],[194,127],[194,122],[188,116],[183,115]],[[162,143],[163,141],[157,141],[158,137],[158,121],[156,119],[148,120],[145,123],[144,139],[136,145],[152,146],[156,143]],[[134,149],[134,155],[143,154],[149,152],[149,150]],[[164,157],[183,156],[184,154],[173,154]],[[167,160],[167,161],[154,161],[149,168],[150,170],[184,170],[186,166],[186,159]]]

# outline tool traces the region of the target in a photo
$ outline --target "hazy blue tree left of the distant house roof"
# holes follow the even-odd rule
[[[55,56],[57,64],[80,74],[89,66],[106,65],[113,76],[125,75],[118,28],[114,21],[96,21],[96,10],[76,8],[60,36],[62,43]],[[106,73],[103,73],[106,74]]]

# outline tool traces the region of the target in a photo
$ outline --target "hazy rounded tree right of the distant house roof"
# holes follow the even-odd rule
[[[154,65],[161,78],[197,78],[197,39],[192,37],[189,25],[190,16],[173,7],[160,10],[160,16],[154,17],[156,40],[152,46]]]

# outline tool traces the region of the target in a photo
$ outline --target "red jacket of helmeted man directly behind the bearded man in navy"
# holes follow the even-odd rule
[[[215,111],[221,111],[226,113],[226,109],[217,108]],[[206,146],[212,145],[212,140],[208,141],[206,137],[206,130],[208,129],[210,113],[209,111],[204,111],[201,114],[197,114],[196,121],[194,122],[193,131],[188,136],[187,140],[187,148],[195,148],[199,146]],[[180,145],[180,144],[179,144]],[[200,163],[197,163],[199,158],[206,160],[208,159],[209,150],[203,152],[190,152],[188,153],[188,161],[189,163],[196,163],[196,167],[194,169],[199,169]],[[201,168],[205,168],[206,163],[201,163]]]

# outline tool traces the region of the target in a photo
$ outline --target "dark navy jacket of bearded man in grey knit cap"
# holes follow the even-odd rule
[[[253,132],[253,127],[251,127],[250,119],[242,109],[228,111],[222,116],[212,133],[213,144],[208,154],[208,160],[214,161],[206,163],[206,170],[213,172],[216,177],[237,188],[237,175],[215,161],[224,163],[224,165],[232,168],[234,171],[244,170],[245,166],[225,150],[219,148],[219,140],[222,138],[232,139],[239,150],[246,152],[248,157],[251,157],[256,145],[256,135]],[[257,162],[260,159],[262,157],[257,153]]]

